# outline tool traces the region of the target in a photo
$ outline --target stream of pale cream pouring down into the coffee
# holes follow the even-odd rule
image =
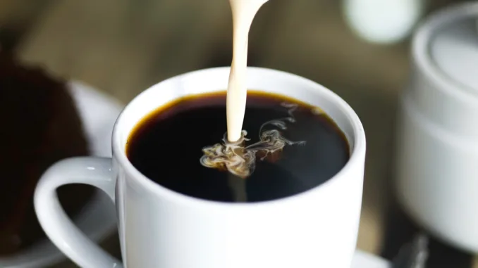
[[[233,60],[226,97],[227,139],[237,142],[243,132],[247,99],[247,43],[252,20],[267,0],[229,0],[233,13]]]

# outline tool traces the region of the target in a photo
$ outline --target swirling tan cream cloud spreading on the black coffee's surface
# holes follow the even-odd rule
[[[204,155],[200,159],[201,165],[218,170],[227,170],[238,177],[247,178],[255,170],[258,155],[260,160],[268,157],[268,159],[274,160],[276,153],[282,151],[285,146],[304,145],[305,141],[290,141],[282,136],[279,131],[287,129],[286,122],[295,122],[293,112],[298,108],[298,105],[281,103],[281,106],[287,108],[289,116],[262,124],[259,129],[259,141],[245,146],[246,141],[250,141],[246,138],[247,131],[245,130],[241,132],[240,139],[235,142],[229,142],[227,135],[224,134],[222,143],[216,143],[202,149]],[[273,126],[277,129],[264,130],[266,126]]]

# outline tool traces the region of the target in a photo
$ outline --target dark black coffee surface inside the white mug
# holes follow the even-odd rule
[[[126,153],[137,170],[157,184],[222,202],[293,196],[333,177],[350,157],[343,132],[327,115],[283,96],[249,91],[243,129],[250,140],[229,155],[252,157],[249,164],[255,166],[247,165],[249,169],[237,175],[227,171],[237,170],[237,161],[227,166],[221,162],[226,155],[221,140],[226,131],[225,93],[183,98],[150,113],[133,129]],[[204,165],[205,154],[209,162],[219,161],[214,162],[216,168]]]

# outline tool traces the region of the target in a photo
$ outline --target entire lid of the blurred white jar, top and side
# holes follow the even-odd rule
[[[412,42],[410,103],[443,133],[477,140],[478,2],[443,8],[422,23]]]

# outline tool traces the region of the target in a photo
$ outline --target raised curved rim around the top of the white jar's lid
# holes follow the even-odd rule
[[[478,16],[478,3],[455,4],[448,8],[443,8],[431,15],[431,17],[419,26],[415,36],[412,39],[412,60],[417,68],[425,77],[436,81],[438,87],[436,90],[443,91],[447,96],[458,98],[463,103],[470,103],[478,106],[478,91],[464,89],[465,85],[455,82],[450,77],[443,75],[443,72],[436,66],[429,53],[429,44],[436,30],[453,23],[453,21],[462,18]]]

